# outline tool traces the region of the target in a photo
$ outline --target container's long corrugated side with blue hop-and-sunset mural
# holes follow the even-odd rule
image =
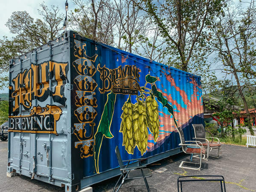
[[[202,122],[200,77],[86,38],[73,44],[72,124],[84,177],[116,168],[116,145],[132,159],[179,147],[176,126],[192,139],[190,124]]]

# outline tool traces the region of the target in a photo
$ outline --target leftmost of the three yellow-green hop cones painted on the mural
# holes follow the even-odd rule
[[[122,107],[122,122],[120,132],[123,134],[123,145],[125,145],[125,149],[128,153],[134,153],[135,140],[134,140],[134,128],[132,125],[132,109],[133,105],[131,102],[125,102]]]

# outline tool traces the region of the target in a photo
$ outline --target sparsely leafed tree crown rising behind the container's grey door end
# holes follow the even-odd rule
[[[28,42],[30,50],[54,40],[62,31],[64,15],[59,13],[59,8],[52,6],[52,9],[48,9],[44,3],[40,6],[43,10],[38,10],[38,14],[43,16],[44,20],[34,21],[29,13],[23,11],[13,12],[6,23],[10,32],[17,34],[17,39]]]

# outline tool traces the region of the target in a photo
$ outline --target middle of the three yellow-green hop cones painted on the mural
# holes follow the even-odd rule
[[[143,155],[148,146],[148,128],[146,121],[146,108],[140,100],[138,100],[138,103],[136,103],[133,108],[133,127],[134,140],[141,155]]]

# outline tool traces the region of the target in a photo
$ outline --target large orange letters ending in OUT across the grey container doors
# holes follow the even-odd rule
[[[57,82],[52,92],[54,102],[65,105],[64,82],[67,81],[67,63],[52,62],[52,82]],[[18,73],[12,79],[12,112],[19,114],[20,104],[26,111],[31,108],[32,96],[37,96],[40,102],[44,102],[49,97],[49,77],[50,77],[49,61],[43,62],[38,66],[32,64],[31,69],[25,69],[22,73]],[[32,78],[33,77],[33,78]]]

